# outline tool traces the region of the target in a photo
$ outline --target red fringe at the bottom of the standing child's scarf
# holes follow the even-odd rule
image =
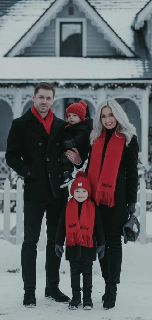
[[[75,246],[76,244],[83,247],[94,248],[92,236],[82,234],[81,231],[70,232],[66,235],[66,247]]]

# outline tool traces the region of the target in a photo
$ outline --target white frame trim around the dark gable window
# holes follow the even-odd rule
[[[62,22],[82,22],[82,56],[87,55],[87,21],[85,18],[57,18],[55,31],[55,55],[60,57],[60,24]]]

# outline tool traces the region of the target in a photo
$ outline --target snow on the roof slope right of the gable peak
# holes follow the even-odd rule
[[[148,3],[148,0],[88,0],[105,19],[118,36],[133,50],[134,31],[131,29],[134,17]]]

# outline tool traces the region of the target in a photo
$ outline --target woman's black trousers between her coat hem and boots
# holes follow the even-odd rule
[[[105,282],[119,284],[122,264],[121,236],[105,234],[105,255],[99,263]]]

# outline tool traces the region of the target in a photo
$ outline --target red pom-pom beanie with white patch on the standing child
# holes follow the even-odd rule
[[[84,171],[78,171],[76,173],[76,179],[71,184],[71,196],[73,196],[73,191],[79,188],[83,188],[88,191],[88,196],[91,195],[91,186],[89,179],[87,179],[87,174]]]

